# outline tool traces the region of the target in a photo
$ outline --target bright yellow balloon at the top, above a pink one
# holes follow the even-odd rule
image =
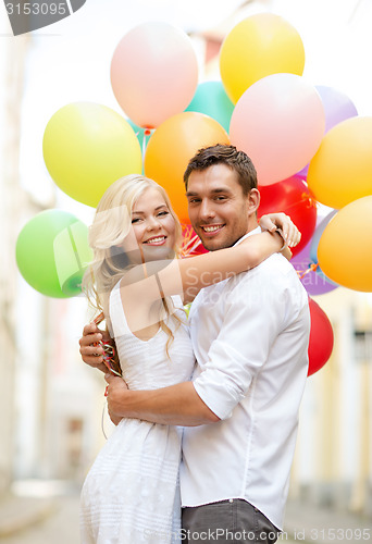
[[[245,18],[221,46],[221,79],[234,103],[262,77],[282,72],[302,75],[303,66],[305,49],[299,34],[272,13]]]

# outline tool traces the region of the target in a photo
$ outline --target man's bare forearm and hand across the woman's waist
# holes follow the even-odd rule
[[[220,421],[201,400],[193,382],[151,391],[131,391],[121,378],[106,374],[109,415],[117,424],[122,418],[142,419],[164,425],[196,426]]]

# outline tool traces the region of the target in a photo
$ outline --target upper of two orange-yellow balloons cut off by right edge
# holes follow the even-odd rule
[[[310,161],[309,189],[325,206],[372,194],[372,116],[350,118],[331,128]]]

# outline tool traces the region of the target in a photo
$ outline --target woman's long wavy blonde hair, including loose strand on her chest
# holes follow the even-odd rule
[[[174,219],[173,249],[176,257],[179,255],[182,227],[164,188],[153,180],[139,174],[126,175],[110,185],[98,203],[94,222],[89,227],[89,245],[94,250],[94,260],[83,277],[83,290],[90,305],[99,312],[103,311],[106,318],[109,317],[109,297],[112,288],[123,276],[125,269],[133,265],[124,250],[120,250],[117,246],[129,234],[134,205],[148,188],[159,190]],[[169,316],[170,299],[166,297],[162,301]],[[160,321],[160,325],[169,334],[169,342],[172,341],[172,331],[163,320]],[[168,346],[169,343],[166,353]]]

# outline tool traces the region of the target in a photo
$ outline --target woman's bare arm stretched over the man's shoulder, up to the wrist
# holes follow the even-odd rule
[[[186,259],[149,262],[125,274],[122,297],[137,304],[146,298],[151,304],[160,297],[181,295],[187,304],[201,288],[257,267],[282,247],[283,238],[277,232],[264,232],[231,248]]]

